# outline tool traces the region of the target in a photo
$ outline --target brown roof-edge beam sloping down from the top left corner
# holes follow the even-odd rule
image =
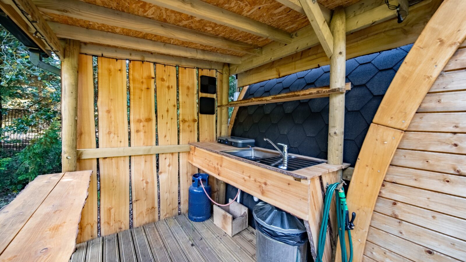
[[[2,10],[12,18],[12,20],[25,32],[32,29],[32,40],[38,44],[43,51],[49,53],[48,50],[53,51],[61,60],[63,59],[64,48],[58,41],[58,38],[53,33],[52,29],[48,26],[47,22],[42,17],[39,9],[34,5],[31,0],[2,0]],[[10,7],[7,7],[9,5]],[[13,12],[16,12],[14,14]],[[20,17],[23,20],[20,21]],[[28,33],[27,33],[28,34]],[[30,35],[29,32],[28,35]],[[37,38],[41,39],[37,41]],[[41,43],[43,42],[43,44]]]

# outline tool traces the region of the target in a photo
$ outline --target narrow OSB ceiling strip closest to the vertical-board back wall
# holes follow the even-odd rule
[[[126,28],[117,28],[117,27],[95,23],[95,22],[90,22],[90,21],[86,21],[82,19],[75,19],[75,18],[68,17],[68,16],[48,14],[48,13],[45,15],[48,21],[54,21],[54,22],[74,25],[74,26],[83,27],[83,28],[96,29],[100,31],[110,32],[110,33],[124,34],[124,35],[129,35],[129,36],[133,36],[137,38],[149,39],[153,41],[159,41],[159,42],[164,42],[164,43],[169,43],[169,44],[174,44],[174,45],[179,45],[179,46],[184,46],[184,47],[202,49],[202,50],[207,50],[207,51],[212,51],[212,52],[218,52],[222,54],[238,55],[238,56],[244,55],[242,53],[238,53],[238,52],[231,51],[231,50],[226,50],[223,48],[214,48],[211,46],[205,46],[205,45],[201,45],[198,43],[179,41],[177,39],[173,39],[169,37],[164,37],[164,36],[155,35],[155,34],[148,34],[148,33],[134,31],[134,30],[126,29]]]

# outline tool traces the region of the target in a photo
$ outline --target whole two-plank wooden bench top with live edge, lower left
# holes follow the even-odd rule
[[[0,210],[0,261],[69,261],[92,171],[41,175]]]

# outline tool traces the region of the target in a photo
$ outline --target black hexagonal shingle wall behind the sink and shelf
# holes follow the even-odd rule
[[[411,45],[346,61],[346,76],[353,84],[345,99],[345,134],[343,161],[354,166],[364,137],[391,80]],[[245,98],[263,97],[295,90],[329,85],[329,66],[302,71],[279,79],[249,86]],[[240,107],[233,125],[232,135],[254,138],[256,145],[274,149],[264,143],[290,146],[290,152],[310,157],[327,158],[329,98],[316,98],[285,103]],[[262,109],[260,109],[262,108]],[[236,189],[227,187],[227,199],[233,198]],[[244,193],[242,201],[254,207],[252,196]],[[250,210],[252,212],[252,210]],[[249,216],[252,218],[252,215]]]

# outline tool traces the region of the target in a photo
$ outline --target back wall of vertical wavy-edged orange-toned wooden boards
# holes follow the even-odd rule
[[[98,57],[95,94],[92,63],[92,56],[80,55],[78,149],[136,149],[187,145],[199,138],[201,141],[216,139],[216,115],[199,115],[197,101],[199,76],[221,77],[217,71]],[[216,98],[216,95],[207,96]],[[78,170],[94,170],[78,243],[98,235],[99,193],[101,235],[130,227],[130,204],[133,227],[169,218],[178,212],[187,213],[188,188],[192,174],[198,169],[188,163],[187,152],[178,152],[177,148],[167,150],[167,153],[133,156],[130,152],[135,151],[128,150],[129,153],[117,157],[101,152],[102,155],[92,156],[95,158],[78,160]],[[100,192],[97,192],[97,173]],[[215,186],[216,182],[212,184]]]

